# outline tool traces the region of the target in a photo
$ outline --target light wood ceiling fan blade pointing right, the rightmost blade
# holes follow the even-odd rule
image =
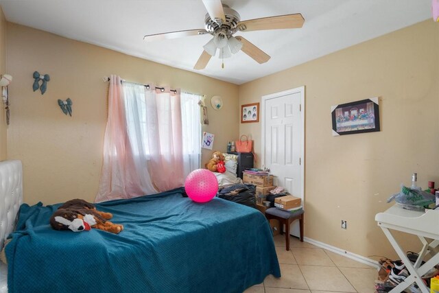
[[[302,27],[304,22],[305,19],[303,19],[302,14],[296,13],[240,21],[237,27],[241,32],[251,32],[254,30],[296,29]]]

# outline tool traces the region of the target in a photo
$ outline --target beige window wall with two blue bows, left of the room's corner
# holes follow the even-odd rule
[[[8,73],[11,124],[8,159],[21,159],[24,167],[25,202],[44,204],[71,198],[93,201],[102,167],[110,74],[132,82],[155,82],[200,93],[210,102],[221,95],[224,108],[209,103],[209,126],[214,148],[226,151],[226,143],[238,135],[239,90],[235,84],[197,73],[159,65],[109,49],[62,38],[29,27],[8,23]],[[32,91],[32,73],[49,74],[47,91]],[[70,97],[73,116],[62,113],[57,100]],[[224,115],[230,115],[224,119]],[[203,150],[203,162],[211,151]]]

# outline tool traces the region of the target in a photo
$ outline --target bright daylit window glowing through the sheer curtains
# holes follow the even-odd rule
[[[178,105],[175,103],[178,95],[156,93],[141,84],[123,82],[123,96],[128,137],[134,145],[134,157],[145,154],[149,160],[152,154],[170,156],[175,150],[170,146],[181,137],[185,177],[200,167],[200,95],[181,93]],[[180,111],[176,109],[178,106]],[[174,129],[176,125],[181,125],[180,133],[178,129]],[[158,150],[154,150],[155,148]]]

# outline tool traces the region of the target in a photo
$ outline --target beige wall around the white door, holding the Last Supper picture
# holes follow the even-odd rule
[[[365,257],[394,255],[375,214],[412,172],[424,188],[439,185],[438,49],[439,26],[425,21],[239,86],[239,104],[305,86],[306,237]],[[333,137],[331,105],[370,97],[379,97],[381,132]],[[261,154],[261,123],[239,132],[252,134]]]

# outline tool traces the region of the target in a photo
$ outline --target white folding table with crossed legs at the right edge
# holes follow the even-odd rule
[[[423,293],[429,293],[430,291],[421,277],[439,263],[439,210],[410,211],[395,204],[387,211],[377,213],[375,221],[378,222],[378,226],[381,227],[390,244],[392,244],[410,272],[410,276],[390,292],[403,292],[412,283],[416,282]],[[416,263],[412,264],[410,262],[390,230],[418,236],[423,248],[419,252]],[[421,266],[427,255],[430,255],[431,258]]]

